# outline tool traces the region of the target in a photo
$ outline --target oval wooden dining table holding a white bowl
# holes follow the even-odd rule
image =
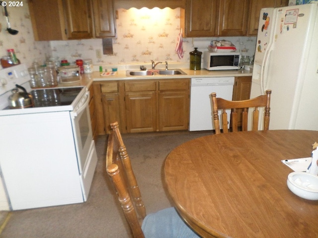
[[[282,160],[311,157],[318,131],[211,134],[174,148],[164,162],[180,216],[204,238],[318,238],[318,201],[287,187]]]

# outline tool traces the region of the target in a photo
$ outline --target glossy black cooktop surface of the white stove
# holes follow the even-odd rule
[[[54,107],[71,105],[83,87],[34,89],[34,107]]]

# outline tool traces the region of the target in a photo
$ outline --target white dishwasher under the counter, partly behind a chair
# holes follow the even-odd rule
[[[191,78],[190,131],[214,129],[210,94],[216,92],[218,98],[232,100],[233,85],[234,77]]]

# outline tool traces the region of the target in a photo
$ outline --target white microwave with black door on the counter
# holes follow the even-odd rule
[[[208,70],[240,69],[238,52],[203,52],[203,67]]]

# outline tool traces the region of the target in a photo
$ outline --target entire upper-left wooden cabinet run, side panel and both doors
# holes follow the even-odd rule
[[[113,0],[29,0],[29,10],[36,41],[115,36]]]

